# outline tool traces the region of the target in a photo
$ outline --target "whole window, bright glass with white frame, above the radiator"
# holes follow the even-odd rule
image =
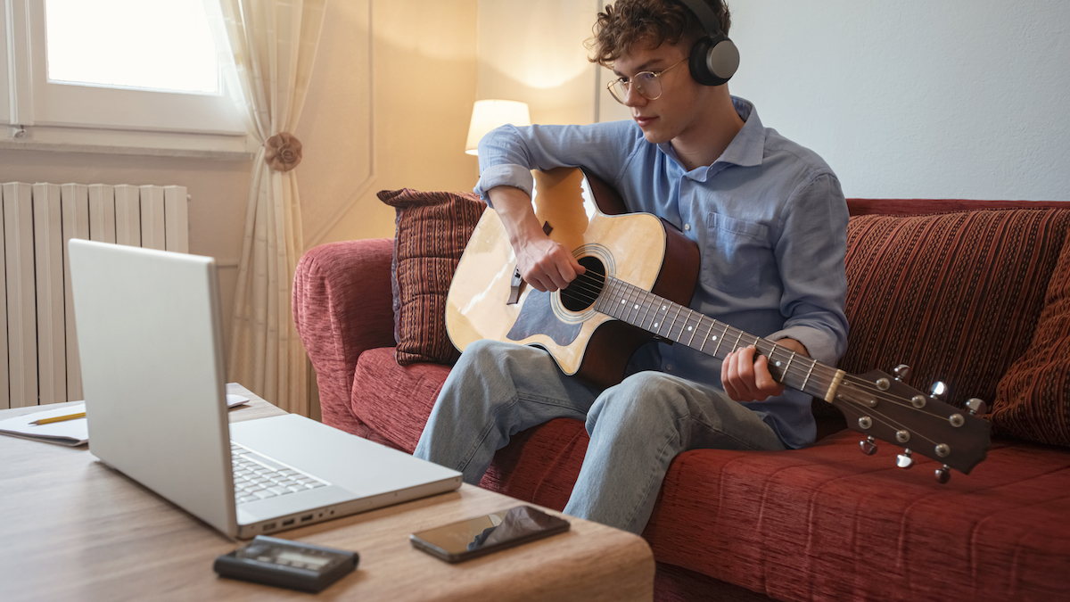
[[[248,156],[221,77],[229,52],[205,15],[213,2],[0,4],[4,147]]]

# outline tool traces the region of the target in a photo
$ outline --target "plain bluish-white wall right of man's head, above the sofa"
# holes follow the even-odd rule
[[[1070,2],[730,6],[732,93],[849,197],[1070,199]]]

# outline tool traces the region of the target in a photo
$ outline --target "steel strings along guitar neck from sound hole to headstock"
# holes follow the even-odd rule
[[[602,281],[601,279],[605,279],[605,280]],[[572,290],[572,286],[574,285],[578,285],[577,290],[581,295],[575,295],[576,291]],[[562,294],[564,295],[566,292],[566,290],[568,290],[569,294],[572,294],[572,298],[574,299],[577,299],[579,301],[583,301],[585,303],[588,303],[590,305],[594,305],[598,301],[599,297],[601,296],[602,290],[605,290],[606,288],[611,287],[611,286],[614,287],[614,288],[617,288],[617,289],[622,289],[623,288],[624,289],[624,297],[626,298],[626,300],[632,301],[633,303],[637,303],[637,302],[641,303],[646,308],[646,312],[647,313],[649,312],[649,308],[652,306],[652,303],[649,303],[651,300],[649,299],[640,299],[639,297],[640,296],[644,296],[644,295],[649,295],[649,296],[656,297],[653,292],[649,292],[647,290],[639,288],[638,286],[635,286],[635,285],[632,285],[630,283],[621,281],[621,280],[612,277],[612,276],[603,276],[602,274],[596,274],[594,276],[590,275],[590,273],[580,274],[579,276],[576,277],[576,280],[572,281],[572,283],[569,284],[568,287],[566,287],[566,289],[562,290]],[[635,294],[636,299],[631,299],[632,294]],[[674,303],[674,304],[679,305],[678,303]],[[683,307],[683,305],[681,305],[681,307],[682,307],[682,310],[679,312],[677,312],[677,315],[674,317],[674,319],[678,319],[679,315],[683,314],[685,311],[688,312],[689,315],[690,314],[698,314],[698,316],[700,316],[700,317],[698,318],[698,321],[696,323],[696,328],[700,327],[702,325],[703,318],[708,319],[712,322],[714,322],[712,325],[710,330],[708,332],[713,332],[713,327],[716,326],[716,323],[723,323],[723,322],[718,322],[717,320],[714,320],[713,318],[709,318],[709,316],[704,316],[703,314],[699,314],[698,312],[694,312],[693,310],[691,310],[689,307]],[[629,310],[627,312],[627,314],[630,314],[630,313],[631,313],[631,311]],[[645,321],[645,315],[646,314],[644,313],[643,318],[639,322],[640,325],[642,325],[643,321]],[[656,313],[655,313],[655,315],[656,315]],[[688,323],[688,320],[689,320],[689,317],[690,317],[689,315],[687,317],[685,317],[684,323],[681,326],[681,337],[676,340],[677,342],[682,342],[683,341],[683,333],[684,333],[684,329],[687,327],[687,323]],[[666,314],[664,317],[668,318],[668,312],[667,312],[667,314]],[[672,338],[673,326],[674,325],[670,325],[669,331],[666,333],[664,336],[667,336],[669,338]],[[737,332],[740,333],[740,340],[742,340],[742,335],[743,334],[747,334],[748,336],[753,336],[754,337],[753,345],[754,345],[755,348],[758,348],[759,345],[760,345],[760,343],[763,341],[759,336],[754,336],[752,334],[743,332],[742,330],[734,329],[733,327],[731,327],[729,325],[724,325],[724,327],[725,328],[722,331],[722,334],[719,335],[721,338],[723,338],[725,336],[729,336],[729,331],[730,330],[735,330],[735,331],[737,331]],[[646,330],[645,327],[642,327],[642,328],[644,328],[644,330]],[[660,329],[657,332],[660,335]],[[707,332],[706,336],[709,335],[708,332]],[[694,334],[697,334],[697,333],[692,333],[690,341],[693,341]],[[739,344],[740,340],[737,340],[737,342],[735,344],[735,348],[739,348],[738,344]],[[778,350],[780,352],[789,353],[790,356],[798,357],[797,353],[795,353],[794,351],[786,350],[782,346],[777,345],[776,342],[770,341],[768,343],[773,347],[771,350],[768,352],[769,359],[775,359],[771,356],[774,353],[778,352]],[[703,347],[704,347],[704,344],[703,344]],[[704,349],[702,351],[705,352]],[[792,363],[790,362],[789,365],[786,366],[786,368],[783,372],[783,376],[786,377],[789,374],[792,374],[792,375],[795,375],[796,377],[798,377],[798,376],[802,376],[802,375],[809,374],[810,378],[808,379],[808,381],[809,380],[813,380],[815,383],[820,383],[826,390],[829,387],[831,387],[831,383],[835,381],[836,372],[838,372],[838,371],[836,368],[831,368],[829,366],[824,366],[823,364],[821,364],[819,362],[815,362],[814,360],[812,360],[810,358],[806,358],[805,356],[802,356],[802,358],[807,362],[810,362],[812,364],[811,368],[807,368],[804,365],[792,365]],[[791,359],[793,360],[794,358],[791,358]],[[878,402],[885,402],[885,403],[889,403],[889,404],[897,405],[897,406],[904,407],[904,408],[906,408],[906,407],[913,408],[913,404],[908,404],[908,403],[902,402],[902,401],[900,401],[899,396],[895,396],[895,395],[885,393],[884,391],[880,390],[875,385],[871,385],[871,383],[869,383],[866,380],[857,379],[856,386],[860,390],[862,390],[862,392],[872,394],[874,396],[874,398],[876,401],[878,401]],[[844,398],[843,401],[846,402],[846,403],[858,405],[858,406],[863,406],[862,404],[860,404],[858,402],[851,401],[851,400]],[[932,411],[929,411],[929,410],[923,410],[923,409],[920,409],[920,408],[913,408],[913,409],[919,410],[920,413],[922,413],[924,416],[929,416],[929,417],[935,418],[937,420],[946,420],[946,418],[944,418],[944,417],[942,417],[942,416],[939,416],[937,413],[934,413]]]

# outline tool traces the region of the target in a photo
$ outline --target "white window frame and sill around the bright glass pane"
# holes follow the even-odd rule
[[[253,157],[230,78],[224,95],[49,82],[45,1],[0,0],[0,148]]]

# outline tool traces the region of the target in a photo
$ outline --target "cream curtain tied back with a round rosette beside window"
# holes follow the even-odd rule
[[[304,251],[292,171],[293,132],[308,89],[326,0],[219,0],[242,112],[260,142],[249,180],[229,378],[287,411],[307,413],[305,350],[290,289]],[[234,80],[236,79],[236,80]]]

